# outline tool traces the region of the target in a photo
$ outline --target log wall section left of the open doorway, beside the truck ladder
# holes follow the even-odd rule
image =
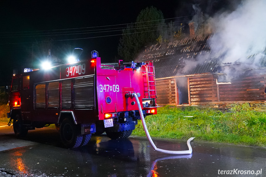
[[[156,80],[156,102],[161,105],[175,105],[176,104],[176,84],[175,79]]]

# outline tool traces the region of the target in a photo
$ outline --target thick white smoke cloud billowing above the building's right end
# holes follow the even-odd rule
[[[231,13],[210,18],[215,32],[210,40],[212,57],[226,62],[243,62],[263,53],[266,47],[266,1],[246,0]],[[261,56],[261,55],[258,55]]]

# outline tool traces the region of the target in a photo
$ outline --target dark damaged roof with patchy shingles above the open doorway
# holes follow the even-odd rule
[[[182,38],[145,48],[137,62],[153,60],[156,78],[215,72],[217,59],[210,58],[211,35]]]

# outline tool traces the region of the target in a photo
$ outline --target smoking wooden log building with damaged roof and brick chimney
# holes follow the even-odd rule
[[[211,37],[190,36],[146,47],[137,61],[153,60],[157,103],[209,107],[250,103],[266,109],[264,59],[260,58],[257,68],[251,66],[254,56],[249,56],[250,63],[221,63],[221,58],[210,55]]]

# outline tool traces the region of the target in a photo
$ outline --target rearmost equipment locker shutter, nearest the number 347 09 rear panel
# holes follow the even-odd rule
[[[75,108],[93,108],[94,76],[74,79],[73,97]]]

